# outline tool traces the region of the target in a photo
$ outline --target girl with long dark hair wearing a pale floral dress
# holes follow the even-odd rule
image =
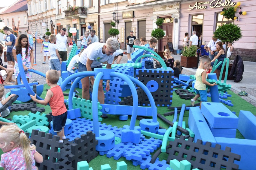
[[[17,62],[17,54],[21,54],[21,60],[23,64],[23,68],[25,71],[26,78],[29,82],[29,78],[31,78],[31,72],[28,71],[28,69],[34,69],[33,63],[34,63],[34,56],[33,56],[33,50],[28,44],[28,37],[25,34],[21,34],[15,43],[15,46],[12,50],[14,59],[15,59],[15,65],[14,65],[14,73],[15,73],[15,85],[18,84],[17,77],[20,73],[20,69]],[[35,69],[34,69],[35,70]]]

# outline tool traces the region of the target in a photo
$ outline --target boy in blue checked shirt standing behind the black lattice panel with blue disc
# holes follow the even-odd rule
[[[156,45],[157,45],[157,39],[151,38],[151,39],[149,40],[149,47],[148,47],[148,49],[154,51],[154,48],[156,47]],[[149,52],[149,51],[147,51],[147,50],[144,50],[143,55],[145,55],[145,54],[149,54],[149,55],[153,55],[153,56],[154,56],[154,54],[152,54],[151,52]],[[144,57],[143,57],[142,59],[144,59]],[[141,60],[141,61],[142,61],[142,60]],[[154,61],[156,61],[157,64],[159,63],[159,62],[158,62],[156,59],[154,59],[153,57],[145,57],[145,68],[154,68],[154,64],[153,64]]]

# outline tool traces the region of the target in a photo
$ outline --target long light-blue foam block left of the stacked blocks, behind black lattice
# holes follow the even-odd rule
[[[200,139],[203,141],[203,145],[205,145],[206,142],[211,142],[212,147],[215,147],[216,140],[212,135],[212,132],[207,125],[206,120],[200,111],[200,108],[190,107],[188,116],[188,127],[195,134],[194,142],[197,142],[197,140]]]

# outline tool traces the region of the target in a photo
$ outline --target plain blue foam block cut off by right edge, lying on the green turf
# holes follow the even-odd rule
[[[245,139],[256,140],[256,117],[250,111],[241,110],[237,129]]]

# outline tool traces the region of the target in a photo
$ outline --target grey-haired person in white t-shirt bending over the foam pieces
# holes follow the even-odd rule
[[[111,69],[114,60],[114,52],[119,48],[117,39],[108,38],[106,44],[95,42],[89,45],[81,54],[78,62],[78,70],[94,71],[94,68],[102,68],[102,62],[107,61],[107,68]],[[94,83],[94,76],[90,76],[91,83]],[[89,77],[81,79],[82,82],[82,97],[89,100]],[[107,80],[106,91],[109,90],[110,81]],[[100,104],[104,104],[104,91],[102,87],[102,80],[99,82],[98,100]]]

